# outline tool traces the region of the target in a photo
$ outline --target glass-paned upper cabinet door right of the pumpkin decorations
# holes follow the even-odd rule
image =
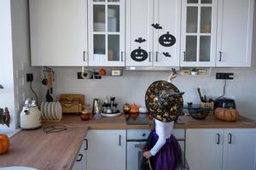
[[[183,0],[181,66],[215,66],[217,0]]]

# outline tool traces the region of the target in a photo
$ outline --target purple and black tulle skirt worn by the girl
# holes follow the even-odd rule
[[[158,138],[155,130],[152,131],[148,138],[148,144],[146,144],[147,150],[151,150],[154,147]],[[150,161],[151,164],[154,164],[152,167],[155,170],[189,169],[183,151],[173,135],[166,139],[166,144],[163,145],[155,156],[150,157]]]

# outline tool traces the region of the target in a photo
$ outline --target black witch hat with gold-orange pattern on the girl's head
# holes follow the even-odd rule
[[[177,121],[183,111],[183,93],[171,82],[153,82],[145,95],[148,113],[160,122]]]

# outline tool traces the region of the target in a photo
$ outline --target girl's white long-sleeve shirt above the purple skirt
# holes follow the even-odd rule
[[[159,120],[154,119],[155,122],[155,132],[158,135],[159,139],[154,144],[154,147],[150,150],[152,156],[166,144],[166,139],[170,138],[172,135],[173,121],[172,122],[160,122]]]

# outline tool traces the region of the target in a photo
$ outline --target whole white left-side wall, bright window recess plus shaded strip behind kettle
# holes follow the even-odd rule
[[[30,66],[28,21],[28,0],[0,1],[0,107],[7,106],[11,115],[10,128],[0,125],[1,130],[19,127],[21,107],[26,98],[34,97],[26,73],[34,74],[33,87],[41,94],[40,68]]]

